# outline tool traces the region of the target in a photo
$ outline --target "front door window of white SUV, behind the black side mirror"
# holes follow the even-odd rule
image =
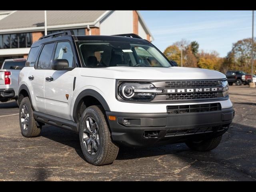
[[[74,56],[69,42],[58,42],[54,60],[66,59],[69,67],[75,67]]]

